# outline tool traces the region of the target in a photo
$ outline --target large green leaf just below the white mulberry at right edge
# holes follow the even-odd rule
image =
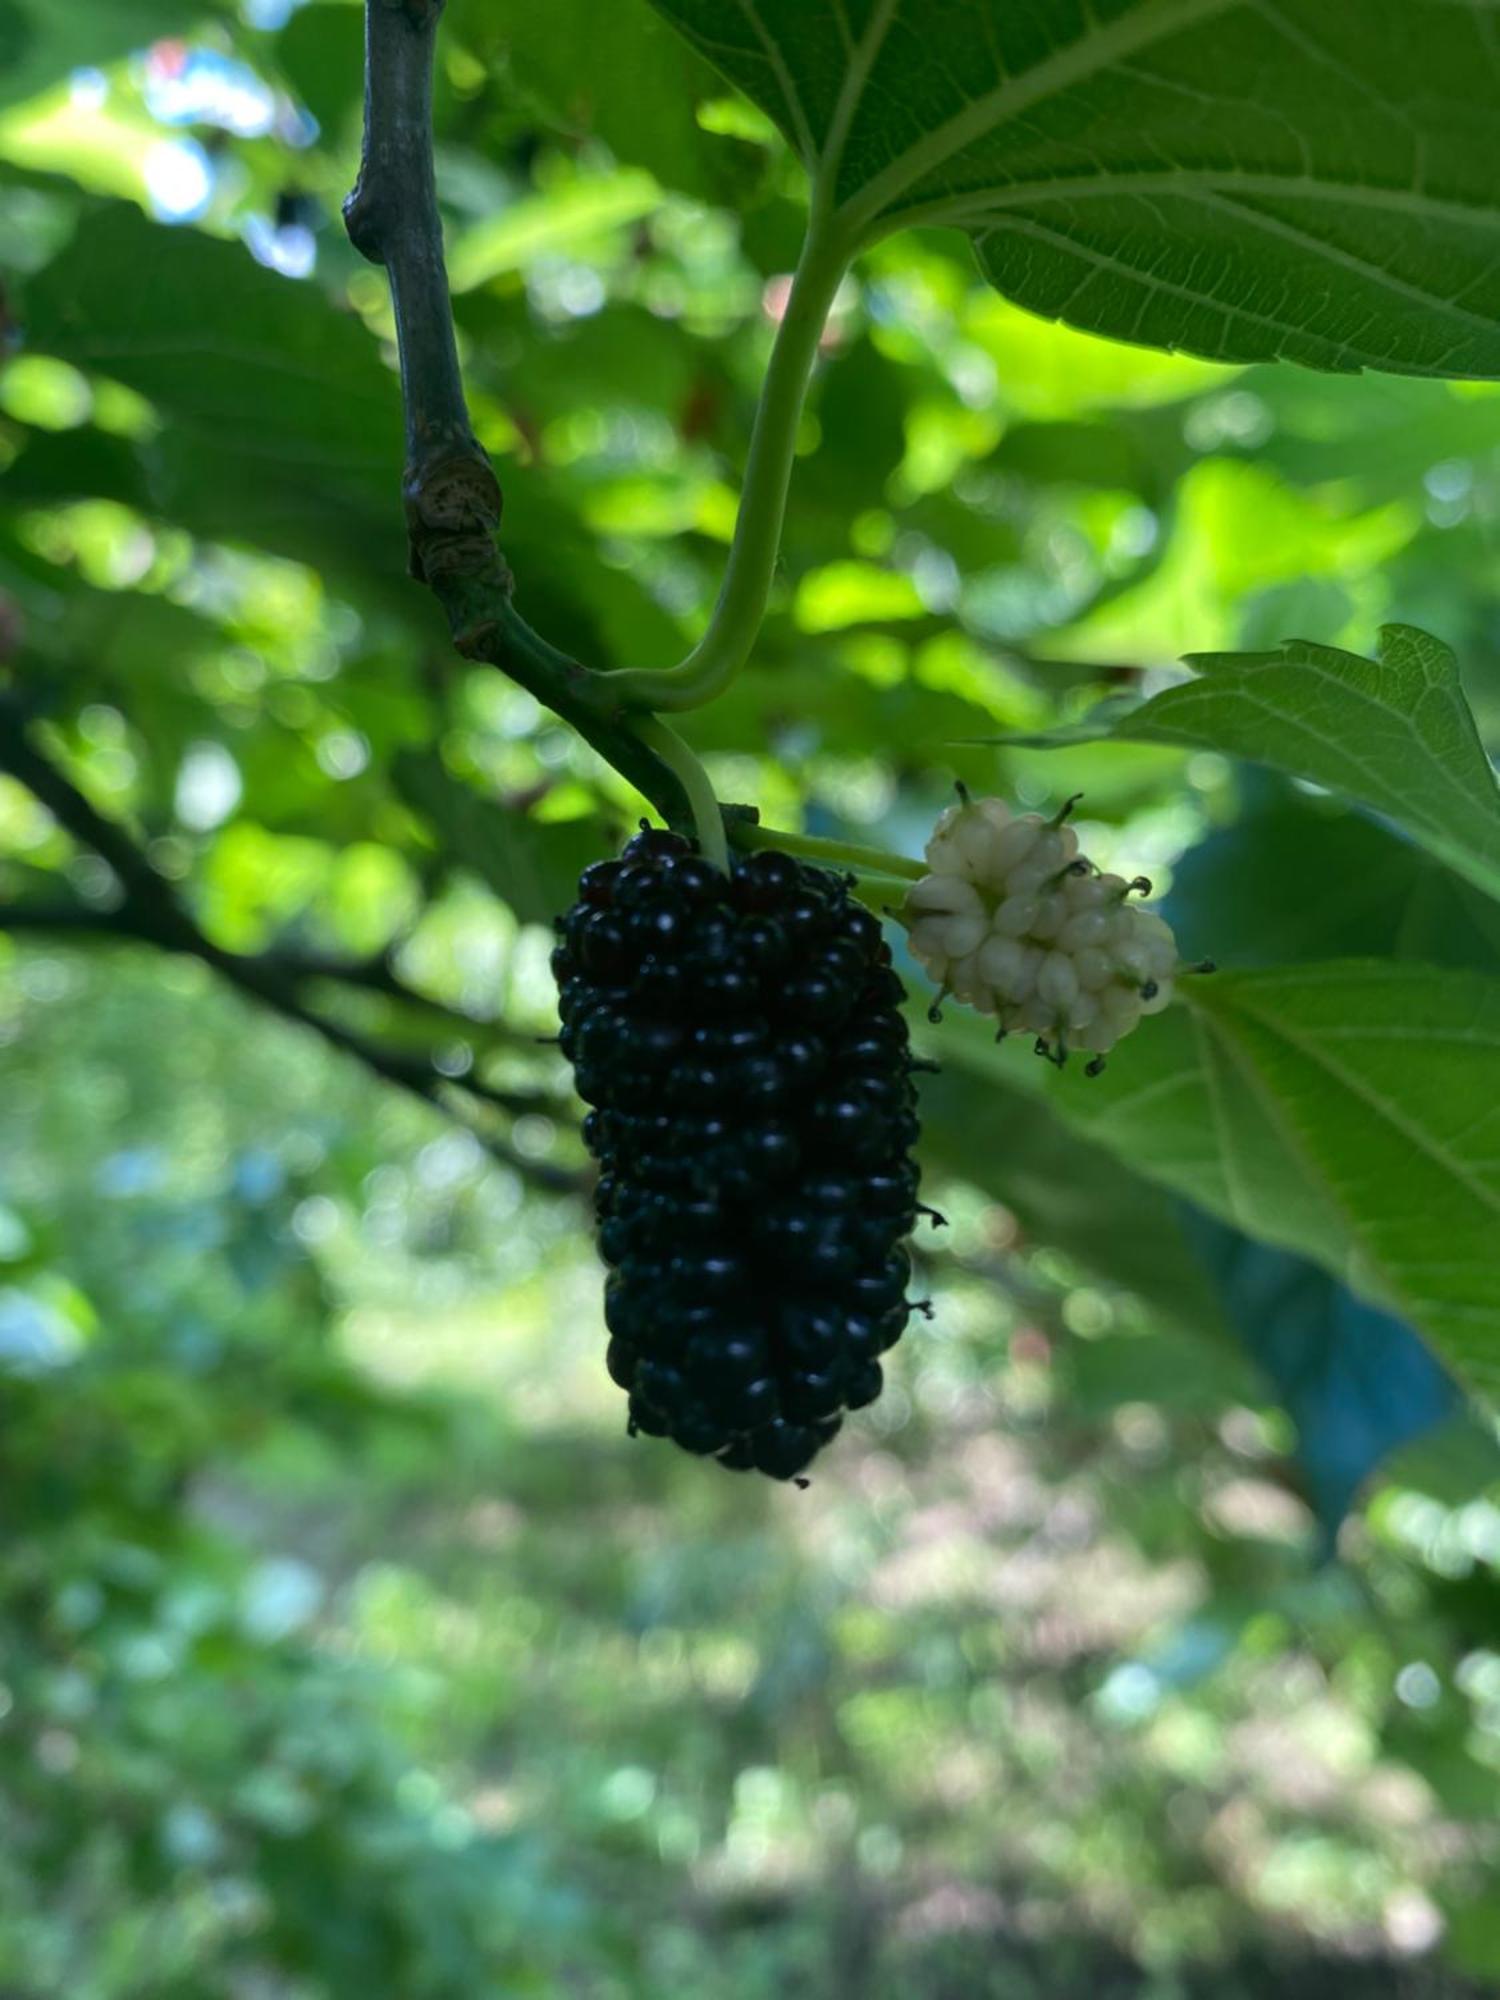
[[[1034,1074],[966,1022],[938,1046]],[[1140,1172],[1312,1256],[1500,1388],[1498,980],[1382,960],[1220,974],[1098,1080],[1048,1088]]]

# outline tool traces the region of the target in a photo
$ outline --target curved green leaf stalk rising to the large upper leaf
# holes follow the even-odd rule
[[[760,390],[734,542],[708,630],[678,666],[622,668],[610,674],[608,688],[622,702],[640,708],[700,708],[722,694],[750,658],[776,576],[802,402],[828,308],[846,268],[842,246],[830,240],[814,216]]]

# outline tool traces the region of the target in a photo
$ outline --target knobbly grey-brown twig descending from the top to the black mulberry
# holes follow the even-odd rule
[[[502,496],[474,438],[458,372],[442,218],[432,174],[432,52],[442,0],[366,0],[364,150],[344,204],[350,242],[390,278],[406,410],[402,496],[412,574],[426,582],[458,650],[486,660],[550,708],[658,812],[690,824],[678,778],[628,728],[608,674],[534,632],[510,602],[496,548]]]

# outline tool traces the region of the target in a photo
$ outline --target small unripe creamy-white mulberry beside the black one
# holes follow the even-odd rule
[[[962,796],[928,840],[932,872],[904,914],[912,954],[944,994],[998,1016],[1002,1034],[1036,1034],[1054,1062],[1092,1050],[1096,1072],[1142,1014],[1168,1004],[1182,968],[1166,922],[1128,900],[1150,882],[1100,874],[1066,814],[1012,816],[998,798]]]

